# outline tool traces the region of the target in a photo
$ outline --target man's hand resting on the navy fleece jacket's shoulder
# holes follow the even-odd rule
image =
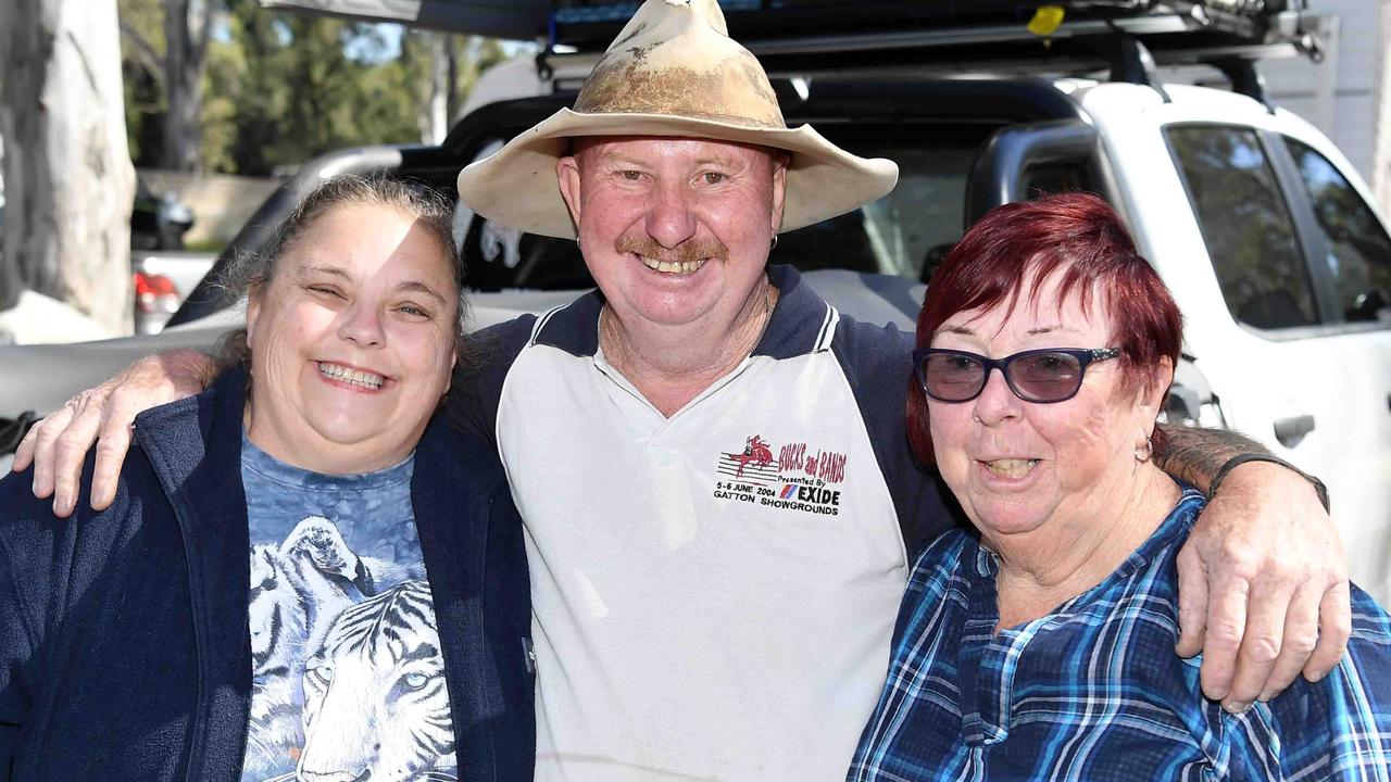
[[[68,399],[61,409],[29,429],[14,454],[14,472],[33,463],[33,495],[53,495],[53,512],[68,516],[77,506],[82,462],[96,441],[92,509],[115,500],[117,476],[131,447],[131,426],[145,409],[200,392],[216,363],[196,351],[146,356],[96,388]]]

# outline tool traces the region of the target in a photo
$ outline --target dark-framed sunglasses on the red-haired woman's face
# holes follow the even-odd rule
[[[912,369],[922,390],[939,402],[968,402],[981,395],[992,369],[999,369],[1010,391],[1025,402],[1064,402],[1082,387],[1086,365],[1121,355],[1118,348],[1046,348],[1003,359],[967,351],[919,348]]]

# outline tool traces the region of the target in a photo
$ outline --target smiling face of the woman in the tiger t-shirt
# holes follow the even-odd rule
[[[248,301],[248,433],[319,472],[402,461],[448,390],[459,288],[440,239],[380,203],[307,223]]]

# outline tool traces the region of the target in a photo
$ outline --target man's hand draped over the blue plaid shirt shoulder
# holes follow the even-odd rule
[[[1231,470],[1178,554],[1178,654],[1203,653],[1227,711],[1317,682],[1351,633],[1342,543],[1313,486],[1269,462]]]

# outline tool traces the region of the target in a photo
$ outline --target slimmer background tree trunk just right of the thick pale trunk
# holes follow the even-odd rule
[[[211,0],[164,0],[163,167],[200,171],[203,156],[203,63],[211,36]]]

